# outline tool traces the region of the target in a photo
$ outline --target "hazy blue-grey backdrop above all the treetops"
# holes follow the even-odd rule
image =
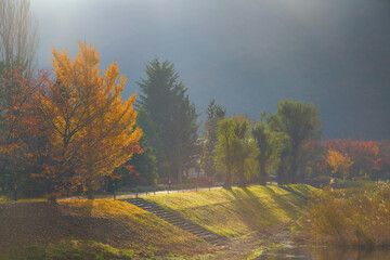
[[[283,98],[320,105],[325,136],[390,134],[388,0],[31,0],[40,66],[51,46],[98,47],[136,91],[169,60],[204,114],[211,99],[258,118]]]

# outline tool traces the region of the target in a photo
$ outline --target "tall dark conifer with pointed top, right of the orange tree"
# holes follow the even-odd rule
[[[156,58],[146,64],[145,72],[146,78],[138,82],[142,91],[139,106],[145,108],[160,136],[159,169],[165,168],[168,176],[174,174],[182,182],[183,171],[199,155],[195,105],[190,102],[172,63]],[[167,160],[162,162],[165,157]]]

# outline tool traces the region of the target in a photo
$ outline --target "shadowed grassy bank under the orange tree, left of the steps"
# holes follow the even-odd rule
[[[174,235],[172,235],[174,234]],[[131,259],[203,252],[206,243],[113,199],[0,204],[0,259]]]

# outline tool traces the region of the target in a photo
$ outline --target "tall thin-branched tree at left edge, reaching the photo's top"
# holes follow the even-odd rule
[[[5,182],[10,185],[11,179],[14,182],[12,186],[17,186],[15,171],[8,169],[16,150],[5,147],[21,145],[15,130],[36,86],[28,77],[36,62],[38,22],[29,6],[28,0],[0,1],[0,146],[3,150],[0,155],[0,181],[3,187]]]

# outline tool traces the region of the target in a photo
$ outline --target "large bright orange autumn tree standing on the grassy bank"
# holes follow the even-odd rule
[[[35,99],[50,155],[41,177],[49,181],[53,202],[75,186],[93,198],[100,177],[130,159],[142,135],[134,128],[135,94],[121,100],[126,78],[117,64],[101,76],[96,49],[81,42],[78,50],[72,61],[66,51],[53,48],[55,82]]]

